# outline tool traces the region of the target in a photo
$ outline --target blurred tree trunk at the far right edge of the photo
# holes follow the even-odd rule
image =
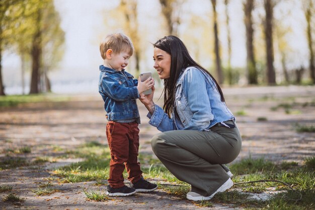
[[[312,19],[312,12],[313,9],[312,1],[309,0],[309,7],[307,7],[305,12],[305,18],[307,22],[307,43],[308,43],[308,50],[309,50],[309,77],[312,81],[312,84],[315,84],[315,66],[314,66],[314,51],[313,51],[313,40],[312,40],[312,28],[311,28],[311,19]]]

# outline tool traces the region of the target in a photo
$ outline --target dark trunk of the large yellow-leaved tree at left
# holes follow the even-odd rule
[[[38,11],[37,18],[37,32],[33,37],[32,43],[32,76],[31,76],[31,87],[30,94],[40,93],[40,64],[41,64],[41,29],[40,29],[40,18],[41,14]]]

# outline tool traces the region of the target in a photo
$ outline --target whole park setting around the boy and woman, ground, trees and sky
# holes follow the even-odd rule
[[[1,0],[0,209],[313,209],[314,5]],[[110,151],[98,93],[99,43],[112,32],[131,37],[135,53],[127,71],[153,73],[160,106],[163,81],[152,67],[157,39],[179,36],[217,79],[242,134],[242,151],[228,164],[231,189],[210,201],[187,200],[190,185],[151,150],[150,139],[160,131],[138,101],[139,162],[144,178],[159,188],[128,197],[104,194]],[[257,180],[288,185],[237,184]]]

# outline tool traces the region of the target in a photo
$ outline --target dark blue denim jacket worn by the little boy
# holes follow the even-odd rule
[[[138,80],[123,69],[121,72],[100,65],[99,93],[104,100],[107,120],[139,117],[136,99]]]

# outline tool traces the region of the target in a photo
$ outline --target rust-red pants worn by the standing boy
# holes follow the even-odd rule
[[[108,183],[113,188],[124,186],[123,171],[127,170],[128,180],[137,182],[142,177],[139,151],[139,128],[137,122],[109,121],[106,125],[108,146],[111,151]]]

